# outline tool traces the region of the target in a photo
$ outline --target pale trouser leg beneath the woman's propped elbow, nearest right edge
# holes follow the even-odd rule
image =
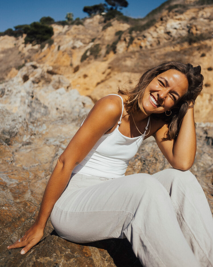
[[[152,175],[169,192],[181,230],[201,266],[213,266],[213,219],[202,187],[190,171]]]

